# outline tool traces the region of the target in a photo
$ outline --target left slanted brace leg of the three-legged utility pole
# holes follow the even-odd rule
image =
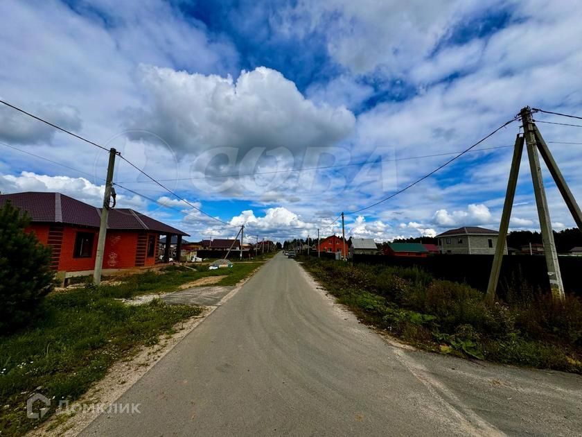
[[[503,213],[499,225],[499,236],[497,237],[497,246],[495,246],[495,257],[493,257],[493,266],[491,266],[491,275],[487,286],[485,300],[488,304],[495,302],[495,293],[497,283],[501,272],[503,255],[505,253],[507,230],[509,229],[509,218],[511,218],[511,207],[513,207],[513,198],[515,197],[515,187],[518,185],[518,175],[520,173],[520,162],[523,153],[524,138],[518,135],[515,138],[513,146],[513,160],[511,160],[511,170],[509,171],[509,180],[507,182],[507,191],[505,192],[505,203],[503,204]]]

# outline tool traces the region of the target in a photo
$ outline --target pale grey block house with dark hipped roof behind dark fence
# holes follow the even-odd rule
[[[437,235],[439,249],[444,254],[495,255],[499,232],[477,226],[464,226]],[[507,247],[504,248],[507,254]]]

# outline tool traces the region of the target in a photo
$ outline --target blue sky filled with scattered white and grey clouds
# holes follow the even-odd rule
[[[341,212],[346,237],[376,241],[495,229],[519,121],[352,212],[525,106],[582,115],[581,16],[576,0],[3,0],[0,98],[186,199],[116,160],[117,206],[191,241],[341,234]],[[582,128],[538,128],[580,200]],[[99,206],[106,170],[106,151],[0,108],[3,194]],[[554,230],[572,227],[543,172]],[[526,153],[510,226],[539,229]]]

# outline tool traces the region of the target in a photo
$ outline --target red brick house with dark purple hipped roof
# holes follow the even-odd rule
[[[59,272],[91,273],[95,266],[101,209],[60,193],[26,192],[0,195],[30,217],[28,231],[51,246],[51,266]],[[188,235],[133,209],[109,210],[104,269],[153,266],[160,235]],[[169,248],[169,245],[168,245]],[[67,276],[67,275],[65,275]]]

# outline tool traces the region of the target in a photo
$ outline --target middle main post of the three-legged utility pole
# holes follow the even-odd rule
[[[552,289],[552,295],[556,300],[563,300],[564,286],[562,284],[562,275],[560,265],[558,264],[558,253],[554,243],[554,232],[552,232],[552,220],[549,216],[547,207],[547,198],[544,189],[542,169],[540,167],[540,157],[538,156],[538,146],[536,142],[536,133],[531,121],[531,110],[529,107],[521,110],[523,121],[523,131],[525,142],[527,143],[527,155],[529,157],[529,168],[531,169],[531,180],[533,182],[533,193],[536,195],[536,205],[538,207],[538,217],[540,219],[540,228],[542,231],[542,240],[544,243],[544,252],[547,265],[547,275],[549,277],[549,286]]]

